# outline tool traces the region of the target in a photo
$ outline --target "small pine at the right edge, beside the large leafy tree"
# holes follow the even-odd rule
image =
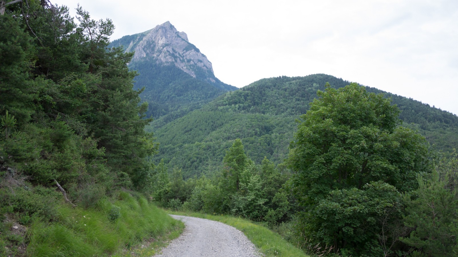
[[[404,195],[405,225],[413,228],[401,241],[419,250],[421,256],[458,254],[458,192],[450,190],[433,172],[430,181],[418,178],[419,187]]]

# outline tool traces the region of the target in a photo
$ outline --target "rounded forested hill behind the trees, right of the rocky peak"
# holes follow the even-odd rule
[[[258,80],[219,96],[201,109],[155,129],[161,145],[155,160],[163,158],[166,164],[181,168],[185,177],[207,173],[221,163],[224,149],[240,138],[253,161],[267,157],[278,164],[288,156],[289,142],[296,131],[294,120],[309,109],[316,91],[324,90],[326,82],[333,88],[349,84],[324,74],[283,76]],[[436,149],[450,151],[458,145],[456,115],[403,96],[387,93],[385,97],[398,105],[403,125],[419,130]]]

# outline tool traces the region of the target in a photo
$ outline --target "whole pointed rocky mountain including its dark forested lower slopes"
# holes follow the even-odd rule
[[[147,117],[165,124],[237,88],[218,80],[212,63],[169,21],[146,32],[114,40],[109,47],[134,52],[135,89],[148,102]]]

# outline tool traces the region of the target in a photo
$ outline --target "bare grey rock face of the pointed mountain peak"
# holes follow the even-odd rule
[[[169,21],[120,40],[126,51],[135,51],[132,62],[147,59],[159,64],[174,64],[194,78],[198,75],[200,79],[215,83],[212,63],[189,43],[185,32],[177,31]]]

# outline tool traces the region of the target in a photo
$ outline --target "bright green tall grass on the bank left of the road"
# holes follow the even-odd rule
[[[110,256],[151,237],[163,238],[184,225],[172,219],[144,197],[120,192],[95,208],[57,207],[55,222],[33,220],[28,230],[27,254],[31,256]],[[179,236],[173,233],[172,237]]]

